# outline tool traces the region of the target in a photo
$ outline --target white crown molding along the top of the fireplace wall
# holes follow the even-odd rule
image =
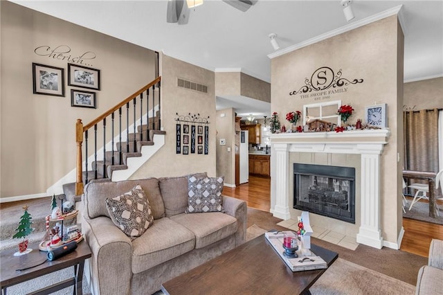
[[[293,46],[289,46],[289,47],[284,48],[280,51],[275,51],[274,53],[271,53],[267,56],[272,60],[274,57],[284,55],[284,54],[289,53],[291,51],[296,51],[297,49],[309,46],[311,44],[318,43],[318,42],[328,39],[330,37],[334,37],[336,35],[341,35],[347,31],[354,30],[355,28],[359,28],[359,27],[365,26],[367,24],[371,24],[374,21],[379,21],[380,19],[384,19],[384,18],[390,17],[392,15],[398,15],[400,26],[403,30],[404,35],[406,35],[404,15],[403,15],[403,12],[401,12],[402,8],[403,8],[403,5],[395,6],[394,8],[390,8],[390,9],[385,10],[383,12],[377,13],[376,15],[371,15],[370,17],[366,17],[365,19],[361,19],[359,21],[354,21],[351,24],[347,24],[346,26],[336,28],[335,30],[331,30],[327,33],[318,35],[314,38],[307,39],[304,42],[300,42],[300,43],[295,44]]]

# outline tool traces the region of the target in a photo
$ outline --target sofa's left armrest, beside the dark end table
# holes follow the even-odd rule
[[[105,216],[85,218],[82,231],[92,252],[93,294],[130,294],[132,240]]]

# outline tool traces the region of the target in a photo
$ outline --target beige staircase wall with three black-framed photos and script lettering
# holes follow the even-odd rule
[[[156,55],[9,1],[1,1],[0,6],[0,195],[45,193],[75,168],[75,120],[89,123],[154,80]],[[69,46],[71,52],[65,56],[87,52],[91,53],[85,56],[95,56],[84,58],[83,65],[100,69],[102,90],[96,91],[97,109],[71,107],[71,89],[81,88],[67,86],[68,61],[37,55],[34,51],[39,46]],[[33,62],[64,69],[64,97],[33,94]]]

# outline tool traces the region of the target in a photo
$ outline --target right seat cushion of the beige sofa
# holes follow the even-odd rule
[[[220,212],[182,213],[170,218],[195,234],[196,249],[206,247],[237,232],[235,217]]]

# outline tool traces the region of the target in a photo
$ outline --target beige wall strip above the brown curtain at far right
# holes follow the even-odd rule
[[[404,84],[404,111],[443,108],[443,77]]]

